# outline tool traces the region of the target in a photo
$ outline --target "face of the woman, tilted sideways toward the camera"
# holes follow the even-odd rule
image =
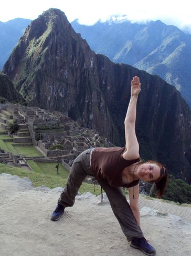
[[[155,163],[141,164],[137,169],[139,179],[143,181],[154,181],[160,178],[160,167]]]

